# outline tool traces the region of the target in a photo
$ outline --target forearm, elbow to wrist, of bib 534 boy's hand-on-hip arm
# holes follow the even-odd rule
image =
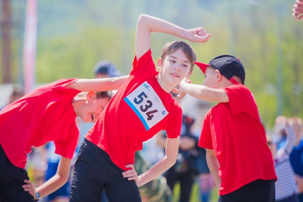
[[[158,161],[155,165],[153,165],[150,169],[142,173],[138,176],[139,178],[139,185],[138,187],[142,186],[143,184],[148,183],[149,181],[155,179],[165,171],[167,171],[171,166],[173,166],[176,162],[175,159],[168,158],[167,156],[163,157],[160,161]]]

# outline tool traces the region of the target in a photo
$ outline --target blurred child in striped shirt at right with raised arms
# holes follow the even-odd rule
[[[267,145],[271,150],[271,154],[275,164],[275,172],[278,180],[275,182],[275,198],[276,201],[298,202],[298,187],[295,181],[294,171],[289,161],[289,155],[296,142],[296,134],[288,124],[288,120],[284,116],[278,116],[275,120],[276,125],[282,125],[286,134],[285,146],[276,149],[276,144],[272,142],[270,136],[266,136]]]

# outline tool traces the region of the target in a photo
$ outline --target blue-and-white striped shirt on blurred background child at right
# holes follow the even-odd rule
[[[277,150],[275,171],[278,180],[275,182],[276,201],[298,194],[294,171],[289,161],[289,154],[296,142],[296,134],[292,126],[285,127],[287,135],[285,146]]]

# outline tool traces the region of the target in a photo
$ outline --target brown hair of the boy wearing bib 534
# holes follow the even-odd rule
[[[193,68],[194,68],[194,61],[196,61],[196,54],[194,52],[194,50],[191,48],[191,46],[188,43],[185,43],[184,41],[171,41],[171,42],[167,42],[161,50],[161,59],[164,60],[164,58],[167,55],[171,55],[173,54],[175,51],[177,51],[179,48],[181,48],[181,50],[184,52],[186,58],[189,60],[191,67],[189,70],[189,73],[192,72]]]

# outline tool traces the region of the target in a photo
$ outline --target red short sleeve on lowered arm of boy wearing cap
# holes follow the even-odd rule
[[[210,121],[208,114],[205,115],[201,134],[198,141],[198,146],[205,148],[205,149],[214,149],[212,144],[212,136],[211,136],[211,129],[210,129]]]

